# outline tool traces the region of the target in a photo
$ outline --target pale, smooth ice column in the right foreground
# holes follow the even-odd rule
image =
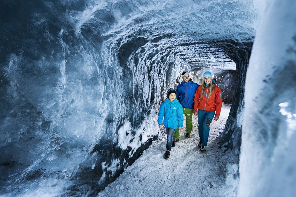
[[[295,196],[296,2],[258,2],[245,86],[238,196]]]

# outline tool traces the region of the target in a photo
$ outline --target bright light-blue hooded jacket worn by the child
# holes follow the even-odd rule
[[[163,123],[165,127],[178,129],[178,127],[183,127],[183,120],[183,108],[177,99],[172,103],[169,99],[166,99],[161,103],[157,119],[159,125],[162,125]]]

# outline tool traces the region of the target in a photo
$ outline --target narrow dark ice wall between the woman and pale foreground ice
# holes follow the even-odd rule
[[[245,110],[245,77],[248,68],[249,58],[252,50],[252,43],[245,44],[229,44],[225,46],[225,50],[229,57],[235,61],[237,70],[236,78],[233,86],[232,106],[229,117],[225,124],[225,129],[220,136],[219,143],[222,150],[232,151],[231,163],[238,164],[238,156],[240,153],[242,121]],[[237,172],[238,174],[238,172]]]

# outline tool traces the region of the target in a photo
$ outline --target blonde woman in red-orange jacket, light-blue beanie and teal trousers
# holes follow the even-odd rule
[[[193,113],[197,116],[200,151],[206,151],[212,119],[217,121],[222,107],[222,92],[212,73],[203,74],[202,85],[196,90]],[[215,114],[216,112],[216,114]],[[215,115],[215,117],[214,117]]]

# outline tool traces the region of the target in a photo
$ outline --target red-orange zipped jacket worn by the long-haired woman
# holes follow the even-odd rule
[[[215,80],[215,79],[214,79]],[[197,109],[204,111],[216,111],[215,116],[219,119],[221,107],[222,107],[222,91],[214,83],[214,89],[210,97],[208,97],[209,88],[205,86],[205,93],[201,98],[202,86],[199,86],[195,92],[193,112],[197,112]]]

